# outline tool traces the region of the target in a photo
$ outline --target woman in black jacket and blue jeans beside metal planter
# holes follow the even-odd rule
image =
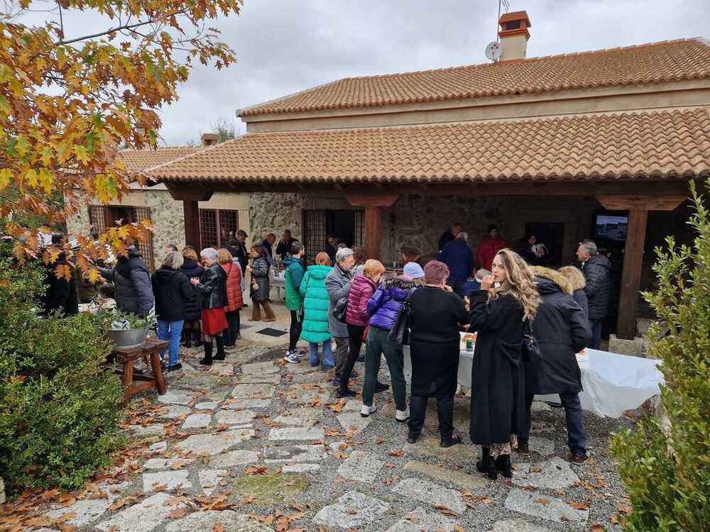
[[[180,272],[182,255],[170,251],[163,257],[163,264],[152,275],[153,297],[155,297],[155,314],[158,316],[158,338],[170,340],[168,347],[169,364],[166,372],[180,370],[178,362],[180,350],[180,334],[185,323],[185,302],[192,297],[194,290],[187,282],[187,277]],[[160,358],[165,353],[160,351]]]

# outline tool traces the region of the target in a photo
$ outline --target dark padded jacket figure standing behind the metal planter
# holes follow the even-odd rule
[[[116,306],[120,311],[144,318],[153,309],[153,286],[141,253],[129,246],[128,255],[119,257],[113,270],[98,267],[101,275],[116,286]]]

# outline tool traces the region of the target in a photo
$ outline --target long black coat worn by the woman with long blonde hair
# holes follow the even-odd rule
[[[523,307],[510,294],[488,301],[486,290],[469,294],[471,328],[478,331],[471,368],[471,441],[508,443],[525,421]]]

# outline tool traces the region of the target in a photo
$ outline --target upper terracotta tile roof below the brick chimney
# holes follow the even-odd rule
[[[710,77],[710,45],[666,41],[484,65],[351,77],[242,109],[240,116],[348,109]]]

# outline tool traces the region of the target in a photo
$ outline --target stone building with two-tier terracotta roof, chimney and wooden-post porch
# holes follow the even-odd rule
[[[687,240],[688,182],[710,176],[710,45],[701,39],[527,58],[525,11],[501,18],[501,60],[340,79],[241,109],[247,133],[148,171],[200,206],[252,194],[256,237],[288,227],[312,257],[329,233],[371,257],[423,257],[454,221],[489,223],[571,263],[603,240],[618,270],[612,328],[633,338],[643,272],[665,233]],[[647,231],[648,228],[648,231]]]

